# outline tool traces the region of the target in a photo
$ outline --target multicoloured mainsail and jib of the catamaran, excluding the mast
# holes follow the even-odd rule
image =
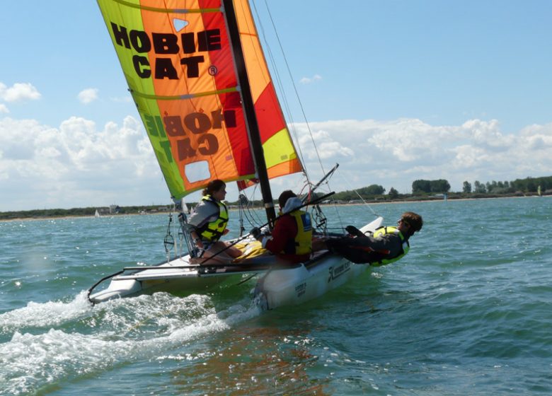
[[[268,177],[302,170],[246,0],[234,0]],[[98,0],[171,195],[255,167],[221,0]]]

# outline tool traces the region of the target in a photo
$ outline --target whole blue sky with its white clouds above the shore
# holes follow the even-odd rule
[[[408,193],[552,175],[552,1],[266,3],[311,179],[339,163],[332,190]],[[171,202],[96,1],[5,4],[0,38],[0,211]]]

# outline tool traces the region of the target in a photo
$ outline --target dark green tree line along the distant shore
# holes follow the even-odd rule
[[[473,185],[465,181],[461,192],[451,192],[447,180],[415,180],[412,183],[411,194],[399,194],[391,187],[389,192],[381,185],[369,185],[358,190],[343,191],[335,193],[331,202],[393,202],[396,200],[431,200],[463,198],[491,198],[491,197],[523,197],[527,194],[552,194],[552,176],[527,177],[513,181],[479,182],[476,180]],[[321,196],[322,194],[319,194]],[[260,202],[258,202],[260,203]],[[238,202],[228,202],[229,205],[237,205]],[[255,202],[253,202],[255,204]],[[193,205],[192,205],[193,206]],[[72,208],[72,209],[34,209],[30,211],[0,211],[0,220],[11,219],[40,219],[45,217],[64,216],[94,216],[96,207]],[[117,206],[116,214],[139,214],[168,211],[168,206],[144,205],[144,206]]]

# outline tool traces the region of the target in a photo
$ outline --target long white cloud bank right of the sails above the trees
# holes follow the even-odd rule
[[[552,124],[530,126],[519,134],[504,134],[496,120],[468,120],[459,126],[415,119],[341,120],[310,127],[325,168],[340,163],[342,176],[332,180],[336,191],[379,184],[410,192],[414,180],[441,178],[459,191],[464,180],[552,175]],[[295,129],[299,141],[311,140],[305,124]],[[310,173],[320,168],[313,148],[303,156]]]

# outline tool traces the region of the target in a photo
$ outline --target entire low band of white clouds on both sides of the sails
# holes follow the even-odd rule
[[[552,175],[552,124],[505,134],[495,120],[337,120],[313,122],[310,132],[294,124],[292,132],[312,181],[322,175],[320,162],[326,170],[340,163],[330,180],[335,191],[378,184],[410,192],[417,179],[447,179],[459,191],[464,180]],[[275,196],[278,188],[301,188],[286,177],[272,184]],[[0,118],[0,191],[0,211],[170,200],[144,127],[130,116],[102,128],[80,117],[54,128]]]

